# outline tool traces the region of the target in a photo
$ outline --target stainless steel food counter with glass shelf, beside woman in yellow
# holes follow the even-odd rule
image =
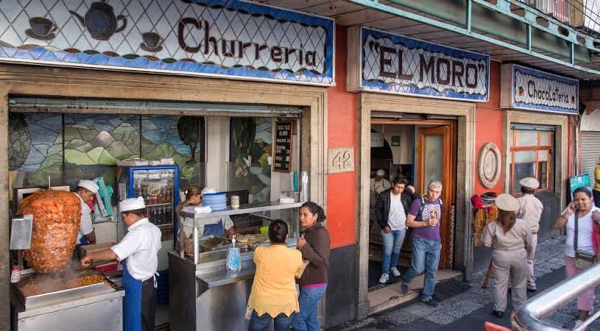
[[[169,314],[170,329],[173,331],[229,331],[245,330],[248,321],[244,315],[248,296],[252,288],[255,266],[254,249],[258,245],[237,245],[240,249],[241,270],[231,272],[226,269],[227,246],[211,251],[200,252],[197,224],[203,219],[215,216],[260,215],[267,219],[282,218],[286,221],[297,216],[301,203],[242,205],[231,209],[211,213],[190,213],[182,211],[184,218],[193,219],[194,256],[187,257],[183,252],[169,252]],[[294,213],[296,212],[296,213]],[[288,213],[289,217],[284,217]],[[266,216],[265,214],[271,214]],[[286,246],[296,246],[297,231],[290,226]],[[298,226],[296,225],[296,228]]]

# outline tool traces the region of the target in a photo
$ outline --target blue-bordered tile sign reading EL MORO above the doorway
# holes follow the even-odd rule
[[[487,101],[490,58],[362,28],[356,90]]]

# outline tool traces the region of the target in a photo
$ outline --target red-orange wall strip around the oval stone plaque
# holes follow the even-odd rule
[[[502,193],[504,169],[493,188],[485,188],[479,179],[479,154],[482,146],[493,142],[502,153],[502,110],[500,110],[500,63],[490,62],[490,101],[477,104],[475,116],[475,194],[493,191]]]

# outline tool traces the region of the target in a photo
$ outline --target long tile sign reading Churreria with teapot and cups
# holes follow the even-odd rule
[[[233,0],[0,1],[0,61],[334,83],[334,21]]]

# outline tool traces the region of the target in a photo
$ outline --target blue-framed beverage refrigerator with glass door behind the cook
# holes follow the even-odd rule
[[[157,301],[167,302],[169,296],[167,254],[175,249],[174,239],[178,225],[175,209],[179,204],[179,167],[176,165],[120,166],[117,168],[117,176],[119,201],[125,198],[143,197],[149,221],[160,228],[162,247],[158,251]],[[122,229],[125,230],[125,227]],[[124,234],[125,232],[122,236]],[[122,236],[119,236],[119,239]]]

